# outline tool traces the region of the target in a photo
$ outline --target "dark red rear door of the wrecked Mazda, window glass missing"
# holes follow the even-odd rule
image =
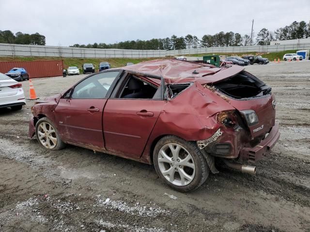
[[[129,84],[132,79],[134,87]],[[122,90],[108,100],[104,109],[105,145],[108,151],[138,159],[163,108],[162,90],[134,75],[124,78],[123,83]]]

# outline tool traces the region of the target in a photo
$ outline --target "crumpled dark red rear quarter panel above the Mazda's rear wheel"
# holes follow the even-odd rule
[[[234,108],[195,81],[164,104],[141,158],[147,159],[153,142],[164,135],[175,135],[187,141],[208,139],[218,128],[223,128],[217,124],[216,116],[217,112],[225,110]]]

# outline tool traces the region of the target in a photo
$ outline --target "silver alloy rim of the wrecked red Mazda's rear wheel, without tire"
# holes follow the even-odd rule
[[[186,186],[195,177],[195,163],[189,152],[181,145],[169,143],[158,154],[161,174],[176,186]]]

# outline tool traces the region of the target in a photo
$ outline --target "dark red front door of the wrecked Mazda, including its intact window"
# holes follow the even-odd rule
[[[59,101],[55,115],[64,141],[104,149],[102,113],[109,88],[118,74],[114,71],[91,75]]]

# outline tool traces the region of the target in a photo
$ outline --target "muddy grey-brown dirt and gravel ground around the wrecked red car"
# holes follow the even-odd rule
[[[221,167],[188,193],[163,184],[150,165],[70,145],[47,151],[27,137],[33,102],[2,109],[0,231],[310,232],[310,62],[246,70],[276,93],[279,142],[255,176]],[[84,76],[33,85],[42,99]]]

